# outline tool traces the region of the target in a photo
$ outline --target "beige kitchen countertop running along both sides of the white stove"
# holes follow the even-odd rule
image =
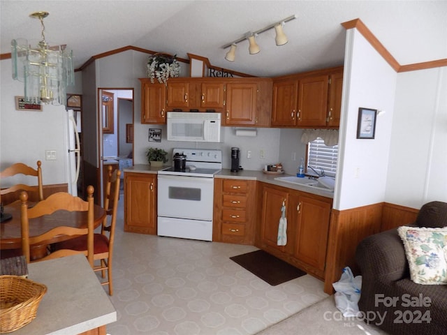
[[[168,168],[168,165],[162,168],[151,168],[149,164],[136,164],[131,168],[124,169],[124,172],[138,172],[138,173],[151,173],[156,174],[159,170]],[[214,178],[233,178],[233,179],[245,179],[245,180],[257,180],[264,183],[273,184],[277,186],[291,188],[302,192],[312,193],[315,195],[321,195],[326,198],[334,198],[334,192],[323,191],[318,188],[309,188],[309,186],[301,186],[297,184],[291,184],[284,181],[274,180],[276,177],[286,177],[292,174],[265,174],[261,170],[240,170],[239,172],[231,172],[230,169],[223,169],[221,172],[214,175]]]

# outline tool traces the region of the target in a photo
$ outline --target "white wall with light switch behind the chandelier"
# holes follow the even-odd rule
[[[24,95],[23,82],[12,79],[10,59],[0,61],[0,73],[0,170],[17,162],[36,168],[40,160],[44,184],[66,184],[64,105],[43,105],[42,112],[15,110],[15,96]],[[45,150],[55,150],[57,159],[46,161]],[[29,180],[29,184],[36,184],[36,180]]]

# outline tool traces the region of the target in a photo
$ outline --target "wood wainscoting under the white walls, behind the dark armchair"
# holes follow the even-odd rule
[[[356,248],[365,237],[416,221],[419,209],[381,202],[337,211],[332,209],[326,256],[324,291],[332,294],[332,283],[339,281],[344,267],[359,274]]]

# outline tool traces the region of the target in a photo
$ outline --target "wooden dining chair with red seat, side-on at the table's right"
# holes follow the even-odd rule
[[[107,184],[105,184],[103,202],[103,207],[107,215],[101,225],[101,233],[94,234],[94,260],[100,262],[99,265],[94,266],[94,271],[101,271],[103,278],[101,285],[109,286],[109,295],[113,295],[112,258],[113,244],[115,241],[115,225],[117,222],[120,176],[121,171],[117,169],[112,172],[112,167],[108,167],[108,179]],[[75,251],[82,251],[86,247],[87,239],[85,236],[54,244],[56,250],[73,249]],[[106,271],[107,276],[105,276]]]

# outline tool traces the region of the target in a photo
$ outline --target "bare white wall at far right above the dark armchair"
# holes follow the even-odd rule
[[[397,76],[386,202],[447,202],[447,67]]]

